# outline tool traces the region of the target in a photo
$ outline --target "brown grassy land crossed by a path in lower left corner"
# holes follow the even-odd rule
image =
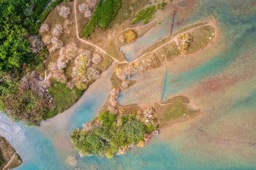
[[[11,160],[13,154],[15,154],[15,150],[4,137],[0,136],[0,141],[0,169],[3,169],[3,167],[5,167]],[[21,163],[22,161],[20,157],[16,154],[15,158],[13,158],[10,164],[6,167],[6,170],[15,168]]]

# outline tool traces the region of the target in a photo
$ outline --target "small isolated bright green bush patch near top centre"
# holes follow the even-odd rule
[[[156,7],[155,6],[150,6],[145,9],[141,9],[136,15],[136,19],[132,21],[132,23],[140,23],[143,21],[144,24],[148,23],[149,20],[152,17],[152,14],[156,12]]]

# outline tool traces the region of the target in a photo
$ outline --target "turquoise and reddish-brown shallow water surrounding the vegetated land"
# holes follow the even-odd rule
[[[218,34],[203,49],[186,58],[167,61],[164,84],[163,75],[154,77],[157,69],[150,70],[143,73],[152,72],[150,81],[138,80],[117,100],[123,105],[145,105],[154,100],[160,102],[161,97],[164,102],[183,95],[189,98],[192,108],[200,109],[200,114],[160,129],[160,134],[145,147],[133,147],[125,155],[112,159],[80,158],[69,141],[70,134],[84,122],[93,120],[107,101],[115,67],[112,63],[73,107],[43,121],[41,127],[27,127],[0,114],[0,135],[23,161],[15,170],[255,169],[256,3],[253,0],[187,0],[186,3],[174,0],[173,3],[166,8],[177,9],[174,33],[212,20]],[[98,32],[101,31],[93,34]],[[135,79],[140,76],[144,75]],[[155,82],[158,84],[152,86]],[[144,92],[143,87],[149,86],[155,91]],[[65,161],[70,156],[76,156],[75,166]]]

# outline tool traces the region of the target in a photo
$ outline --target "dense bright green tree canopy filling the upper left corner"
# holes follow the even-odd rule
[[[29,46],[28,28],[35,25],[36,15],[49,0],[1,0],[0,3],[0,70],[35,63]]]

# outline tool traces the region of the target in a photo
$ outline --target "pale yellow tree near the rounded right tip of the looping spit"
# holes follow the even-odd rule
[[[188,33],[180,35],[178,40],[175,40],[174,46],[179,51],[180,56],[185,56],[188,53],[187,48],[191,42],[192,37]]]

